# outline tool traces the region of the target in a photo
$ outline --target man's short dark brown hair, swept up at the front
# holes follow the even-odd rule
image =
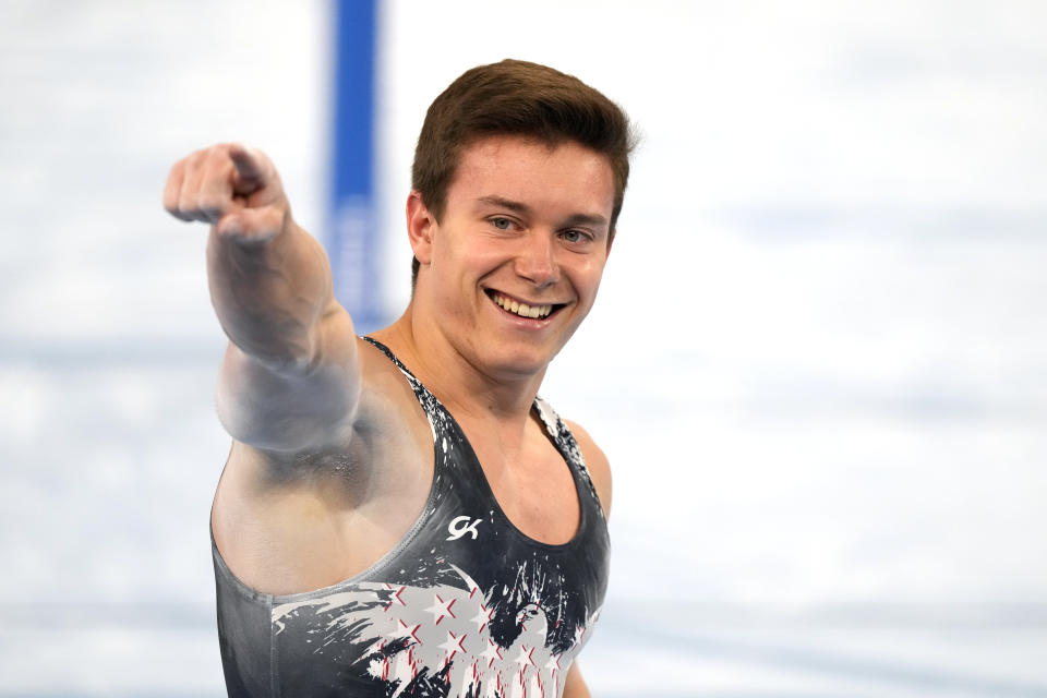
[[[574,141],[604,155],[614,177],[611,243],[635,146],[621,107],[577,77],[538,63],[506,59],[466,71],[430,105],[414,148],[411,186],[437,221],[462,152],[493,135],[533,137],[550,147]],[[412,289],[418,269],[416,257]]]

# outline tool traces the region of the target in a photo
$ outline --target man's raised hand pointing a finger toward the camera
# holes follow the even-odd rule
[[[164,207],[176,218],[210,222],[219,237],[249,244],[272,240],[290,225],[290,205],[273,163],[236,143],[176,163]]]

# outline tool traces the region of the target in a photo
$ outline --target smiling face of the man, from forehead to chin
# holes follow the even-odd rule
[[[468,147],[420,279],[459,353],[504,377],[544,370],[595,300],[613,202],[606,157],[577,143]]]

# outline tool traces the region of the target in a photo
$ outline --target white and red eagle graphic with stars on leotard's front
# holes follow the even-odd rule
[[[357,686],[365,670],[390,698],[558,696],[599,610],[575,626],[569,649],[557,652],[550,623],[559,621],[551,621],[535,595],[541,589],[527,583],[522,569],[515,588],[484,592],[465,571],[449,567],[460,586],[362,582],[351,591],[276,606],[275,631],[304,628],[314,653],[338,655],[327,659],[348,670],[347,687]],[[503,643],[508,638],[498,641],[493,626],[506,614],[512,623],[503,625],[515,637]]]

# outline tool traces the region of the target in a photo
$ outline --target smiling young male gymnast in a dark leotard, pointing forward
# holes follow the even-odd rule
[[[361,338],[269,160],[178,163],[213,224],[233,437],[212,514],[230,696],[588,696],[607,461],[538,397],[597,296],[628,178],[622,111],[503,61],[430,107],[407,228],[414,292]]]

